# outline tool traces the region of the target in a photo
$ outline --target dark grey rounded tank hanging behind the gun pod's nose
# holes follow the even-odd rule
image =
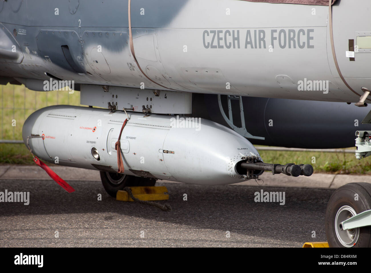
[[[226,96],[221,96],[228,116]],[[371,130],[361,124],[370,107],[323,101],[242,97],[247,131],[265,140],[249,139],[258,145],[308,149],[354,146],[354,132]],[[228,127],[220,114],[217,95],[193,94],[193,116],[207,118]],[[240,127],[238,100],[232,101],[234,125]],[[269,126],[271,120],[271,125]],[[355,126],[358,123],[358,127]]]

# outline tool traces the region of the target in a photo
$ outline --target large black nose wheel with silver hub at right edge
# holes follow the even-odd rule
[[[370,183],[349,183],[336,189],[326,208],[325,229],[329,247],[371,247],[371,227],[351,230],[340,227],[342,221],[368,209],[371,209]]]

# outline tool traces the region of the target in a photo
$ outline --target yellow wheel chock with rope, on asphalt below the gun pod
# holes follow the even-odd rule
[[[135,198],[143,201],[168,200],[169,194],[165,186],[129,187]],[[116,200],[133,202],[127,191],[118,191]]]

